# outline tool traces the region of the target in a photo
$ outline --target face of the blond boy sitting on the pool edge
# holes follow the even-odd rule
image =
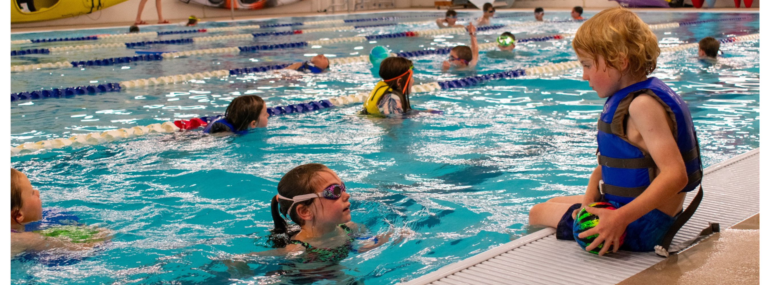
[[[604,62],[604,57],[596,55],[597,59],[577,50],[577,59],[583,65],[583,79],[588,81],[588,86],[596,91],[599,98],[607,98],[618,92],[621,86],[621,73],[618,69],[612,69]]]

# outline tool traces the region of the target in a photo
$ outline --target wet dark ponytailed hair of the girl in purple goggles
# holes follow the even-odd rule
[[[281,180],[278,182],[278,193],[286,198],[316,193],[314,187],[316,183],[314,182],[318,179],[318,173],[322,171],[331,172],[331,169],[320,163],[307,163],[296,166],[281,177]],[[289,207],[294,203],[293,201],[278,199],[277,195],[273,196],[273,199],[270,201],[270,213],[273,216],[273,230],[271,230],[269,243],[272,243],[275,247],[285,247],[288,245],[290,238],[300,231],[299,226],[302,226],[305,223],[305,221],[297,215],[296,207],[300,205],[309,206],[313,203],[313,200],[314,199],[306,199],[297,202],[294,204],[295,210],[290,211]],[[286,219],[281,215],[287,214],[298,226],[289,226],[289,224],[286,223]]]

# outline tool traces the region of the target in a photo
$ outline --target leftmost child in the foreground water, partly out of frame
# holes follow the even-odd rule
[[[59,226],[26,231],[25,226],[42,219],[40,191],[21,171],[11,169],[11,258],[28,250],[89,250],[109,239],[108,231],[85,226]]]

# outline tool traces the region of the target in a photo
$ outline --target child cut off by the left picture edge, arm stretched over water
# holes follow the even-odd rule
[[[66,238],[44,236],[41,233],[25,231],[25,225],[42,219],[40,191],[32,188],[32,183],[21,171],[11,169],[11,258],[27,250],[88,250],[95,246],[94,240],[101,243],[105,236],[96,237],[82,243],[73,243]],[[95,230],[94,230],[95,231]]]

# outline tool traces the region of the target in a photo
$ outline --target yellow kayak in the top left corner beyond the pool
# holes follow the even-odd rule
[[[11,24],[89,14],[128,0],[11,0]]]

